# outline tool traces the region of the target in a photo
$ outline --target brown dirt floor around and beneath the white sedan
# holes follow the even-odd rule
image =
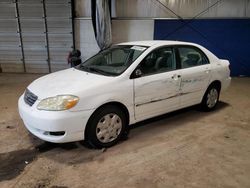
[[[0,187],[250,187],[250,79],[234,78],[214,112],[196,107],[131,127],[107,150],[31,136],[17,100],[41,75],[0,74]]]

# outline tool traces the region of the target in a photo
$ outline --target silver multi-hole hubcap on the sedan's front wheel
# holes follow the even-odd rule
[[[114,113],[103,116],[96,126],[97,139],[102,143],[109,143],[117,139],[122,130],[122,120]]]

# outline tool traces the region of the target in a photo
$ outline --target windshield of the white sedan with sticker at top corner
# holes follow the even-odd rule
[[[117,76],[123,73],[145,50],[143,46],[114,46],[103,50],[76,68],[79,70]]]

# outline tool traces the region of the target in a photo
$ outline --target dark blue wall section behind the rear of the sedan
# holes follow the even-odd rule
[[[250,76],[250,19],[155,20],[154,39],[200,44],[228,59],[232,76]]]

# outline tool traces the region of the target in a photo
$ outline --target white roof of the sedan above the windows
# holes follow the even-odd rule
[[[154,45],[197,45],[190,42],[173,41],[173,40],[146,40],[146,41],[131,41],[123,42],[118,45],[135,45],[135,46],[154,46]]]

